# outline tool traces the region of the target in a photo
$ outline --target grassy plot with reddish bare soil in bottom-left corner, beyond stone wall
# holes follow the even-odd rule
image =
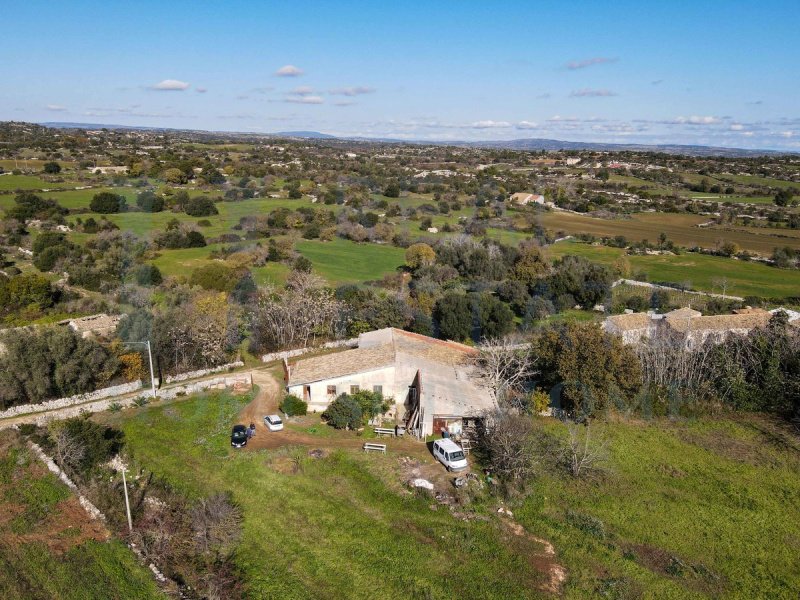
[[[106,536],[14,432],[0,432],[0,598],[163,598],[133,553]]]

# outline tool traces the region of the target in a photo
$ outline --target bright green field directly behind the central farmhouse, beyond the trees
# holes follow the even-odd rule
[[[382,279],[405,262],[405,250],[402,248],[359,244],[340,238],[330,242],[300,240],[296,247],[313,263],[314,271],[337,285]]]

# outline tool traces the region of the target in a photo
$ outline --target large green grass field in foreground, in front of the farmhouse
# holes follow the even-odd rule
[[[537,550],[503,527],[498,498],[461,509],[477,517],[462,520],[404,492],[392,452],[233,451],[229,427],[247,401],[193,397],[96,417],[125,431],[138,465],[190,496],[233,494],[247,597],[541,597]],[[541,423],[564,435],[559,422]],[[604,475],[544,469],[511,505],[554,544],[564,597],[797,597],[796,438],[756,416],[615,421],[595,435],[609,444]],[[299,467],[281,468],[290,464]]]

